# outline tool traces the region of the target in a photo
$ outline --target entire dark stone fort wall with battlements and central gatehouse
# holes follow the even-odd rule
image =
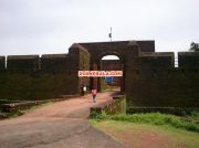
[[[119,63],[104,62],[106,55]],[[155,41],[74,43],[66,54],[0,56],[0,98],[56,98],[80,94],[83,84],[101,92],[100,78],[77,76],[96,70],[123,71],[119,85],[128,108],[199,106],[199,53],[179,52],[175,67],[174,52],[155,52]]]

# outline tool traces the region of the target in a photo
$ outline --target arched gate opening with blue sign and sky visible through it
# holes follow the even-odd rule
[[[98,55],[96,63],[93,64],[93,70],[97,71],[123,71],[122,77],[97,77],[93,78],[93,87],[98,92],[117,91],[124,94],[124,59],[116,52],[104,52]]]

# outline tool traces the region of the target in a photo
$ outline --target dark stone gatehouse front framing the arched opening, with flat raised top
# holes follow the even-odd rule
[[[140,52],[155,52],[155,42],[154,41],[119,41],[119,42],[94,42],[94,43],[77,43],[73,44],[70,47],[70,51],[73,49],[82,49],[88,57],[83,60],[84,63],[90,63],[90,71],[101,70],[101,60],[106,55],[116,55],[119,57],[121,67],[123,71],[123,77],[121,81],[121,92],[125,92],[125,73],[126,71],[134,68],[134,61],[139,55]],[[86,62],[85,62],[86,60]],[[87,70],[87,68],[84,68]],[[80,85],[83,83],[90,82],[90,88],[97,88],[101,91],[101,81],[100,78],[80,78]]]

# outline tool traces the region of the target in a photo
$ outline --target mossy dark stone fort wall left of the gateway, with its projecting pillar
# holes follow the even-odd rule
[[[90,85],[87,78],[77,77],[77,71],[90,68],[87,59],[90,54],[81,46],[72,46],[69,54],[9,55],[7,62],[1,56],[0,98],[46,99],[78,94],[78,82]]]

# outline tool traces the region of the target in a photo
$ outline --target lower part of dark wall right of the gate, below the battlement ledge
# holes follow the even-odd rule
[[[147,72],[148,71],[148,72]],[[199,75],[174,68],[126,72],[125,92],[128,107],[198,107]],[[193,74],[195,73],[195,74]]]

